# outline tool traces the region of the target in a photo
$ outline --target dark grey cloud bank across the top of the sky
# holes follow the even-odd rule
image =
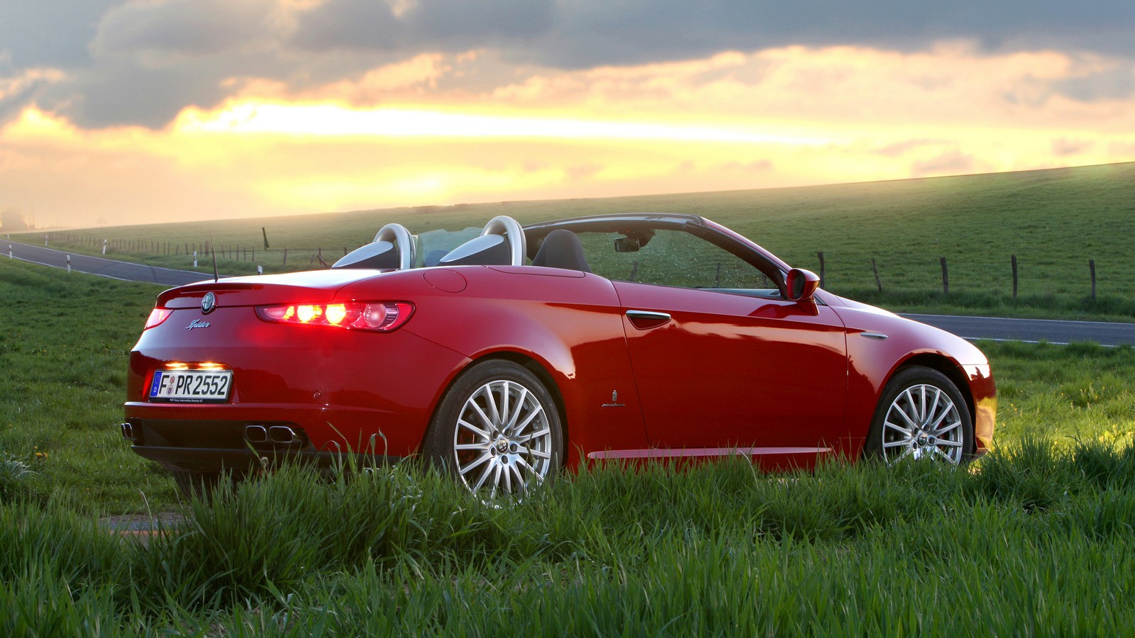
[[[161,127],[184,107],[209,108],[257,83],[310,93],[359,83],[380,67],[466,51],[481,52],[469,73],[439,66],[445,73],[426,87],[487,94],[526,77],[705,60],[724,51],[919,53],[943,41],[970,42],[975,54],[1060,50],[1126,60],[1126,67],[1053,84],[1042,78],[1032,92],[1006,93],[1023,104],[1052,96],[1113,100],[1135,93],[1133,28],[1130,0],[5,0],[0,53],[15,70],[0,76],[53,68],[66,79],[0,98],[0,124],[5,112],[36,104],[84,127]],[[700,81],[751,84],[767,70],[718,66],[707,72],[716,76]],[[831,70],[809,73],[797,81],[843,79]],[[930,72],[913,79],[931,91],[948,81]],[[352,99],[381,100],[385,81],[371,84]]]

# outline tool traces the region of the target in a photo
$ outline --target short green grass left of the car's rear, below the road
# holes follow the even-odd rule
[[[42,497],[92,512],[163,503],[169,478],[123,444],[126,364],[162,288],[0,260],[0,452]]]

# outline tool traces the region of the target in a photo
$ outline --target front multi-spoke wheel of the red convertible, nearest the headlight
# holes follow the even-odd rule
[[[974,448],[974,422],[958,388],[930,368],[908,368],[883,391],[867,434],[866,454],[960,464]]]

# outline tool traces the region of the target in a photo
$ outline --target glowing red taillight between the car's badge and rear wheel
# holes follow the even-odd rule
[[[410,320],[414,304],[404,301],[348,301],[258,305],[257,317],[274,324],[336,326],[389,333]]]

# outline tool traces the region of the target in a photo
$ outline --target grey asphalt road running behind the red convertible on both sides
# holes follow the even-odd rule
[[[9,246],[11,255],[15,259],[67,268],[68,253],[17,242],[8,242],[7,244],[0,242],[0,247],[3,250],[0,258],[8,255]],[[131,282],[151,282],[166,286],[180,286],[210,278],[208,274],[202,272],[157,268],[154,266],[82,254],[72,254],[70,266],[73,270],[79,272]],[[953,314],[903,314],[903,317],[942,328],[967,339],[1043,341],[1054,344],[1095,342],[1108,346],[1135,345],[1135,324],[1060,321],[1051,319],[1000,319],[995,317],[962,317]]]

